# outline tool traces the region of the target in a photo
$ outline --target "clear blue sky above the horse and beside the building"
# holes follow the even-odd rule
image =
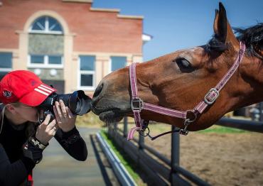
[[[263,22],[263,0],[222,0],[232,27]],[[143,32],[153,38],[143,46],[144,61],[183,48],[203,45],[213,35],[216,0],[93,0],[92,7],[120,9],[144,16]]]

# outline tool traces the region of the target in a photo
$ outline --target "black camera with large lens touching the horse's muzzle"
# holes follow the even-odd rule
[[[50,121],[55,119],[53,105],[55,105],[56,101],[59,102],[60,99],[63,100],[65,106],[68,106],[73,114],[83,115],[90,111],[90,102],[92,99],[88,97],[84,91],[77,90],[72,94],[57,94],[54,92],[38,106],[38,109],[43,110],[38,121],[40,124],[48,114],[51,116]]]

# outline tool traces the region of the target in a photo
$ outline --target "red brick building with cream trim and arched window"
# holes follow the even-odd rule
[[[142,62],[142,16],[95,9],[92,0],[0,1],[0,78],[31,70],[60,93],[92,94],[109,72]]]

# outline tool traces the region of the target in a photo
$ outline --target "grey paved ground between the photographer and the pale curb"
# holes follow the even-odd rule
[[[73,159],[53,139],[33,170],[34,185],[119,185],[94,136],[99,128],[78,129],[87,143],[87,160]]]

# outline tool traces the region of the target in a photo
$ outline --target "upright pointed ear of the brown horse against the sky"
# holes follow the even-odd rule
[[[215,10],[214,32],[222,43],[232,43],[234,48],[239,48],[239,42],[235,38],[230,23],[227,21],[227,13],[222,3],[219,3],[219,11]]]

